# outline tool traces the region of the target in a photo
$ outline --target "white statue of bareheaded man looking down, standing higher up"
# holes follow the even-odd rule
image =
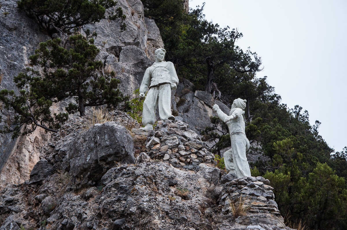
[[[158,107],[159,117],[175,120],[171,115],[171,89],[177,89],[178,77],[174,64],[163,61],[165,49],[156,49],[154,52],[155,62],[146,69],[140,86],[139,97],[145,98],[142,112],[142,130],[152,130],[155,121],[155,109]],[[145,92],[149,88],[147,96]]]

